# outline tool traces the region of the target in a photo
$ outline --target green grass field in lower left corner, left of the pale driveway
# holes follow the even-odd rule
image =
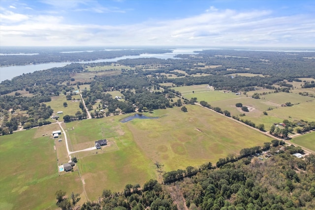
[[[58,176],[54,140],[46,130],[55,125],[45,125],[12,135],[1,136],[0,141],[0,209],[56,209],[55,192],[67,195],[76,192],[83,197],[78,173]],[[83,199],[84,200],[84,199]]]

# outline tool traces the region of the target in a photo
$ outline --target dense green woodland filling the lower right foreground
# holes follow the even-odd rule
[[[315,209],[315,155],[300,159],[300,148],[265,143],[264,160],[255,156],[236,158],[219,168],[211,163],[188,166],[163,175],[177,174],[162,185],[157,180],[127,184],[123,192],[104,189],[98,201],[84,203],[81,210],[302,210]],[[268,147],[267,147],[268,146]],[[280,150],[279,148],[282,147]],[[247,150],[255,150],[247,149]],[[302,150],[303,151],[303,150]],[[242,155],[241,155],[242,156]],[[158,166],[158,165],[157,165]],[[185,176],[189,175],[189,176]],[[58,193],[58,192],[57,192]],[[64,194],[63,194],[64,195]],[[70,209],[72,197],[57,195],[57,206]],[[66,204],[66,206],[65,206]]]

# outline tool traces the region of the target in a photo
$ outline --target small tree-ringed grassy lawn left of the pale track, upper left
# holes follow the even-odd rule
[[[80,100],[80,95],[72,95],[72,99],[73,98]],[[68,106],[63,107],[63,102],[66,102]],[[81,111],[81,109],[79,108],[79,103],[80,101],[67,101],[65,95],[63,94],[60,94],[59,96],[52,96],[51,101],[46,102],[47,106],[51,106],[56,115],[57,112],[63,111],[63,114],[58,114],[61,121],[63,120],[63,116],[75,115],[77,111]]]

